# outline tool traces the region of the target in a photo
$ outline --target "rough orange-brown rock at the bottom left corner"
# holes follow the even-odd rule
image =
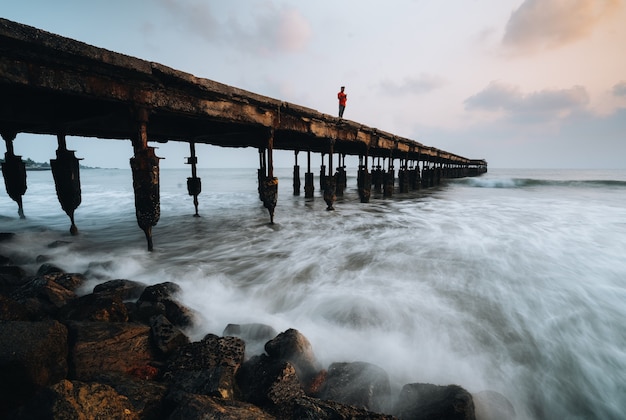
[[[139,419],[115,389],[100,383],[63,380],[39,392],[9,419]]]

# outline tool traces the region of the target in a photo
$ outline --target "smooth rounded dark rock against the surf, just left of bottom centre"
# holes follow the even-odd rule
[[[321,370],[311,343],[293,328],[268,341],[265,344],[265,351],[273,359],[291,363],[303,384],[311,382]]]

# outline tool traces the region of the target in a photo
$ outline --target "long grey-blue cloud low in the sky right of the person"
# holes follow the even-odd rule
[[[464,101],[465,109],[502,112],[514,120],[550,121],[584,110],[589,94],[582,86],[544,89],[525,94],[516,86],[491,82]]]

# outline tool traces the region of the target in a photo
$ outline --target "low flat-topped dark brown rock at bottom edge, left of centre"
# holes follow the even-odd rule
[[[207,395],[172,393],[167,398],[172,407],[169,420],[272,420],[274,416],[259,407],[241,401],[223,400]]]

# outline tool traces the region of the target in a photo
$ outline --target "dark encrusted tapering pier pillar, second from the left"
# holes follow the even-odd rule
[[[78,234],[78,228],[74,223],[74,211],[78,208],[81,201],[79,159],[72,150],[67,150],[65,134],[58,134],[57,140],[59,143],[57,158],[50,159],[50,168],[52,169],[59,203],[61,203],[61,208],[69,216],[72,223],[70,233],[76,235]]]

